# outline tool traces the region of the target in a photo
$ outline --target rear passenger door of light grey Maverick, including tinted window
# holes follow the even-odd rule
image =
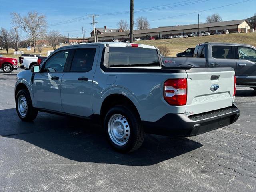
[[[61,82],[61,100],[65,113],[88,117],[92,115],[92,84],[98,46],[74,48],[69,72]]]

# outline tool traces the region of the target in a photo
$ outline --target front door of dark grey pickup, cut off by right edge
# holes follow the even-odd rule
[[[256,84],[256,50],[251,47],[238,46],[236,75],[238,84]]]

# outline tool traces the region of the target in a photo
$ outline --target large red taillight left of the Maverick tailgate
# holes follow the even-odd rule
[[[170,105],[186,105],[187,79],[168,79],[164,82],[164,100]]]

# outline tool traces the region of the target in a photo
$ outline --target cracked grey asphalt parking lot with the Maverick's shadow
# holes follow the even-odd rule
[[[256,191],[252,88],[237,88],[234,124],[190,138],[146,135],[120,154],[86,120],[39,112],[22,122],[16,74],[0,72],[0,191]]]

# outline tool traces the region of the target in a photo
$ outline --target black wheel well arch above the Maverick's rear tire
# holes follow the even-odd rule
[[[140,118],[140,114],[133,102],[122,94],[112,94],[105,98],[100,109],[100,119],[104,122],[104,117],[108,110],[115,105],[124,105],[131,108]]]

